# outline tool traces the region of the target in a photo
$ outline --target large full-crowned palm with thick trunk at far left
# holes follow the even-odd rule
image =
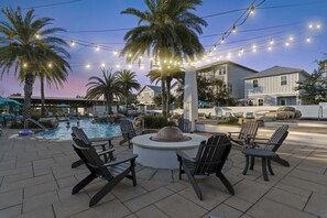
[[[31,118],[31,98],[33,84],[41,68],[44,68],[45,62],[51,62],[50,57],[56,56],[61,61],[69,58],[65,51],[68,44],[53,36],[53,33],[65,31],[61,28],[48,28],[52,24],[51,18],[34,17],[34,10],[29,10],[25,14],[21,9],[12,8],[1,9],[8,22],[0,21],[0,68],[1,77],[9,73],[13,67],[14,74],[24,84],[24,108],[23,118]],[[50,56],[48,56],[50,55]],[[66,70],[68,64],[58,69]]]

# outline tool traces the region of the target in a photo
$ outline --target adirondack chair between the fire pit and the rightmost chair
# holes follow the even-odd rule
[[[259,129],[257,121],[244,122],[239,132],[228,132],[230,141],[237,145],[244,145],[251,143],[255,139]]]

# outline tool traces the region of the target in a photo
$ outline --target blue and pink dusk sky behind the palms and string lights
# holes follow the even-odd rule
[[[261,1],[254,0],[254,4]],[[247,9],[252,2],[253,0],[204,0],[203,6],[194,13],[204,17],[208,22],[204,34],[199,35],[207,51],[220,40],[221,33],[232,26],[243,13],[242,9]],[[0,0],[1,8],[7,6],[20,6],[24,12],[34,8],[37,18],[53,18],[53,26],[67,30],[58,33],[58,36],[67,42],[76,42],[75,46],[67,48],[72,55],[72,72],[67,83],[64,88],[46,88],[47,97],[85,96],[87,79],[90,76],[100,76],[101,64],[105,64],[106,68],[112,67],[113,70],[118,69],[117,67],[128,68],[124,58],[116,55],[115,51],[123,47],[126,32],[135,26],[138,20],[120,12],[127,8],[145,10],[142,0]],[[255,70],[279,65],[312,73],[317,68],[315,61],[321,59],[327,53],[326,9],[326,0],[266,0],[255,9],[253,15],[238,26],[235,34],[226,39],[224,45],[217,46],[214,55]],[[4,20],[2,14],[0,20]],[[290,39],[291,36],[293,39]],[[307,42],[308,37],[310,42]],[[273,45],[270,45],[271,40]],[[290,43],[288,46],[285,43]],[[252,52],[254,44],[255,53]],[[96,46],[99,46],[99,51],[96,51]],[[269,46],[272,46],[271,51]],[[241,51],[241,56],[238,56]],[[145,56],[142,68],[138,63],[132,66],[142,86],[150,84],[145,77],[149,70],[148,61]],[[214,58],[199,66],[210,62],[214,62]],[[40,96],[39,84],[36,80],[33,96]],[[15,79],[13,72],[10,72],[0,80],[0,96],[7,97],[14,92],[23,95],[23,85]]]

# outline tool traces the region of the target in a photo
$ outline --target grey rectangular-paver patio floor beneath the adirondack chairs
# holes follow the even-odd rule
[[[91,183],[72,195],[72,187],[83,179],[85,166],[72,170],[77,160],[72,142],[50,142],[0,137],[0,217],[327,217],[327,149],[313,145],[283,144],[281,156],[291,167],[272,163],[275,176],[264,182],[261,162],[254,171],[241,174],[244,157],[232,150],[226,176],[232,183],[231,196],[216,177],[199,178],[204,200],[198,200],[186,176],[176,171],[138,165],[138,186],[123,179],[96,207],[89,208],[90,196],[105,184]],[[130,153],[118,145],[117,155]]]

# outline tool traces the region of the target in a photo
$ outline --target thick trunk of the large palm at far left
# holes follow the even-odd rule
[[[31,118],[31,100],[33,94],[34,76],[26,74],[24,81],[24,107],[23,107],[23,119]]]

